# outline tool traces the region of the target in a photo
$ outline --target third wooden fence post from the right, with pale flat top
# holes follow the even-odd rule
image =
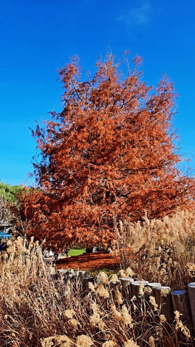
[[[164,314],[168,323],[173,323],[173,305],[171,301],[171,288],[170,287],[156,287],[155,302],[160,308],[160,314]]]

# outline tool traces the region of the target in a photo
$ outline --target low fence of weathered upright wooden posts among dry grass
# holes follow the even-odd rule
[[[53,276],[56,276],[54,270]],[[77,278],[85,283],[84,287],[86,290],[88,282],[94,282],[95,280],[94,277],[90,277],[89,271],[76,271],[73,269],[59,269],[57,276],[63,276],[71,281]],[[135,281],[133,278],[119,278],[119,283],[124,298],[140,296],[145,301],[149,301],[149,297],[154,296],[160,314],[164,314],[168,323],[173,323],[175,319],[174,312],[178,311],[182,314],[180,320],[187,325],[189,330],[192,331],[193,327],[195,332],[195,282],[189,283],[187,290],[176,291],[171,291],[170,287],[162,287],[158,282],[149,283],[146,280]],[[110,281],[110,285],[115,287],[112,281]]]

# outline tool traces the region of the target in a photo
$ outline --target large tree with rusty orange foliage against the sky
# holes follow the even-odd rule
[[[24,196],[29,235],[103,243],[115,220],[136,221],[144,211],[161,218],[194,204],[194,179],[177,168],[173,84],[164,76],[156,89],[146,85],[140,61],[125,76],[108,55],[87,81],[77,58],[60,70],[63,110],[33,133],[41,190]]]

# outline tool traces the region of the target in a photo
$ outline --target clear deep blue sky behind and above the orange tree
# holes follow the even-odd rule
[[[157,85],[166,72],[180,94],[181,153],[195,169],[194,0],[0,0],[0,179],[30,184],[35,128],[60,110],[57,69],[80,56],[94,71],[100,55],[130,49],[144,59],[144,80]]]

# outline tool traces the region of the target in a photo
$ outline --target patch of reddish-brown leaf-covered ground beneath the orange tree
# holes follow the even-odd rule
[[[116,269],[119,266],[119,261],[113,255],[103,252],[85,253],[75,255],[74,257],[60,258],[56,262],[57,269]]]

